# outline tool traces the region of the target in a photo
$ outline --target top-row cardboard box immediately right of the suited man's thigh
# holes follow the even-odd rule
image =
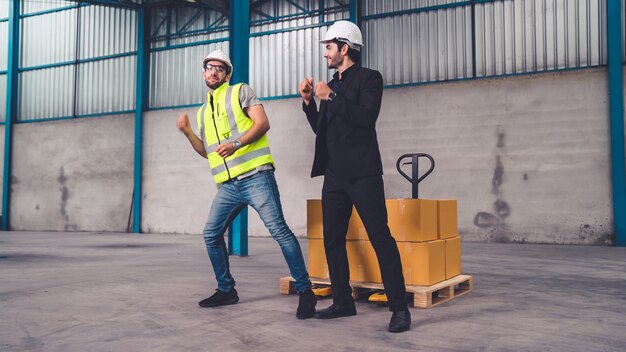
[[[398,242],[437,239],[437,201],[432,199],[387,199],[388,224]]]

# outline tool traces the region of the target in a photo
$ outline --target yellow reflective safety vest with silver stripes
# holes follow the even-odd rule
[[[242,83],[233,86],[224,83],[213,94],[207,93],[207,102],[196,114],[204,150],[216,183],[228,181],[261,165],[274,164],[267,135],[242,146],[227,158],[215,152],[219,144],[234,142],[254,125],[254,121],[241,108],[241,86]]]

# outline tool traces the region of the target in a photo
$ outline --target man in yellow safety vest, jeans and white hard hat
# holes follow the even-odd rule
[[[191,129],[187,114],[180,115],[177,121],[178,129],[193,149],[208,159],[218,187],[204,226],[204,241],[217,289],[199,305],[217,307],[239,301],[230,273],[224,232],[233,218],[250,205],[280,245],[295,279],[294,287],[300,295],[296,316],[312,318],[317,299],[311,291],[298,240],[283,216],[266,135],[270,125],[263,105],[248,85],[228,84],[233,66],[221,50],[205,57],[202,69],[209,92],[207,102],[197,112],[200,135]]]

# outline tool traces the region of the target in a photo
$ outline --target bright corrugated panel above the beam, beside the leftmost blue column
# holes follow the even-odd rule
[[[21,67],[76,58],[76,11],[71,9],[21,20]]]

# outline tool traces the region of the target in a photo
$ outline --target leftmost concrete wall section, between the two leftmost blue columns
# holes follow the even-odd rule
[[[13,230],[126,231],[132,116],[13,126]]]

